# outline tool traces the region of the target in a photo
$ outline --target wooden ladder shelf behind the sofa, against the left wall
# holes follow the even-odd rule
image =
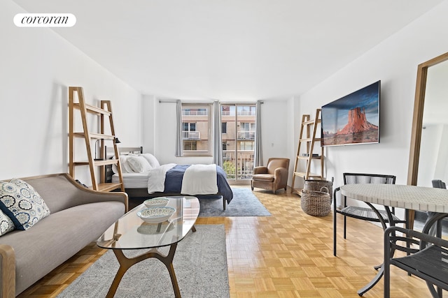
[[[77,94],[78,102],[76,102],[75,94]],[[69,87],[69,174],[75,178],[75,167],[80,165],[88,165],[90,170],[90,179],[92,180],[92,189],[94,191],[113,191],[120,188],[125,191],[123,184],[123,175],[120,167],[120,158],[118,158],[118,148],[116,144],[115,129],[113,127],[112,106],[110,100],[101,100],[100,107],[87,105],[84,99],[83,87]],[[80,119],[83,124],[81,132],[75,132],[75,110],[80,111]],[[94,119],[99,117],[99,133],[90,133],[87,125],[88,115],[94,115]],[[90,119],[90,118],[89,118]],[[106,120],[109,119],[111,134],[105,134]],[[85,140],[85,149],[87,150],[87,161],[75,161],[75,138],[83,138]],[[93,146],[99,140],[99,158],[92,156],[92,140]],[[113,143],[114,158],[107,159],[104,150],[105,141]],[[95,150],[96,152],[96,150]],[[96,155],[96,154],[95,154]],[[106,182],[106,166],[116,165],[118,169],[119,182]],[[100,177],[97,179],[95,168],[99,167]]]

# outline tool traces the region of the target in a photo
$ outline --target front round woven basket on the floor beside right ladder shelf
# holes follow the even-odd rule
[[[321,190],[325,188],[323,186]],[[300,197],[300,204],[304,213],[312,216],[325,216],[331,211],[330,194],[323,191],[307,191],[304,189]]]

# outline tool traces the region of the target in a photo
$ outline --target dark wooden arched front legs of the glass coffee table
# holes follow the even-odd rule
[[[157,249],[151,249],[151,251],[148,251],[146,253],[143,253],[141,255],[137,255],[137,257],[134,258],[127,258],[123,251],[120,249],[114,249],[113,253],[115,253],[118,262],[120,263],[120,268],[117,271],[117,274],[115,278],[113,278],[113,282],[111,285],[111,288],[109,288],[109,292],[107,292],[106,298],[113,298],[115,295],[118,285],[120,285],[121,278],[125,275],[127,269],[130,269],[134,264],[137,264],[138,262],[141,262],[143,260],[146,260],[148,258],[156,258],[160,260],[168,269],[169,277],[171,278],[171,282],[173,285],[174,295],[175,297],[181,297],[181,291],[179,290],[179,285],[177,283],[176,274],[174,273],[174,267],[173,267],[173,259],[174,259],[174,253],[176,253],[177,244],[172,244],[169,247],[169,253],[167,255],[162,255],[159,253]]]

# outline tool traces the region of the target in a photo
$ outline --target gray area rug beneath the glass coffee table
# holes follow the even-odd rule
[[[174,271],[183,298],[230,297],[224,225],[195,225],[179,242]],[[141,251],[125,251],[137,255]],[[57,297],[106,297],[118,271],[118,261],[107,251]],[[151,258],[137,263],[123,276],[115,297],[174,297],[167,267]]]

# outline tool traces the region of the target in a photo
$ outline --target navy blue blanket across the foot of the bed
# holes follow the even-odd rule
[[[183,174],[190,165],[175,165],[167,171],[165,177],[165,193],[181,193]],[[232,188],[227,181],[227,175],[222,167],[216,165],[216,180],[218,183],[218,193],[229,204],[233,198]],[[211,193],[210,195],[214,195]]]

